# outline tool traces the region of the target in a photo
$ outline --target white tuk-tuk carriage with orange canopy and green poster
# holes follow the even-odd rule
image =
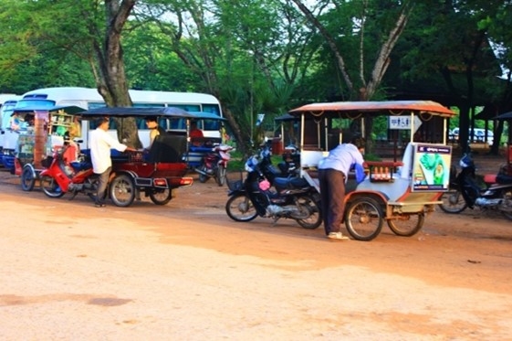
[[[365,136],[365,118],[387,116],[390,132],[409,132],[403,152],[388,141],[392,159],[366,162],[366,178],[349,175],[345,227],[355,240],[373,240],[385,220],[398,236],[410,237],[423,227],[425,215],[448,190],[452,148],[446,144],[446,119],[455,115],[434,101],[341,101],[312,103],[291,110],[300,120],[300,175],[319,190],[317,166],[344,134]],[[348,120],[346,129],[334,123]],[[421,128],[421,130],[419,129]],[[439,133],[442,132],[442,133]],[[390,136],[396,134],[390,134]],[[402,134],[400,135],[401,137]],[[378,151],[375,149],[375,151]]]

